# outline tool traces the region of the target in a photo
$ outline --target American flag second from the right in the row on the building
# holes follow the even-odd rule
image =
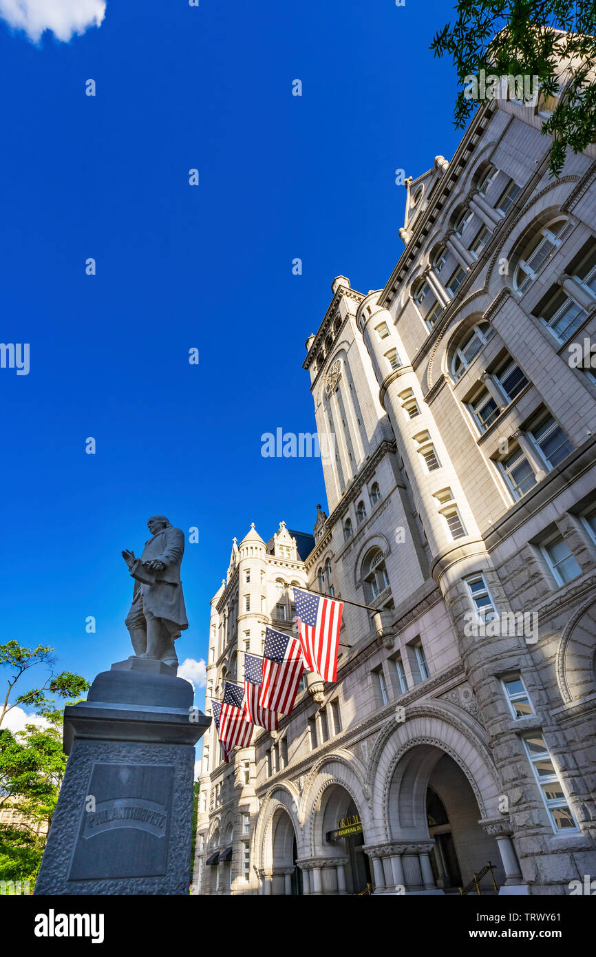
[[[263,651],[263,683],[258,703],[262,708],[289,715],[294,707],[304,665],[300,643],[291,634],[268,628]]]

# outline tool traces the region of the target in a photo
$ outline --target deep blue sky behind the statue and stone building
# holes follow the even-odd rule
[[[31,344],[28,375],[0,368],[1,640],[50,644],[89,680],[127,657],[121,548],[164,513],[199,528],[177,643],[198,660],[232,536],[312,530],[320,462],[263,458],[260,436],[314,430],[301,364],[332,279],[385,284],[394,170],[459,141],[453,67],[428,49],[450,12],[107,0],[99,28],[38,44],[0,23],[0,339]]]

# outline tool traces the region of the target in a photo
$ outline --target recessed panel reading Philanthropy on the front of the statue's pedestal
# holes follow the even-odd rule
[[[165,875],[173,776],[171,765],[95,764],[68,879]]]

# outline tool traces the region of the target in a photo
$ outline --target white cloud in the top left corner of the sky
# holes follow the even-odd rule
[[[0,0],[0,17],[33,43],[44,30],[67,43],[74,33],[99,27],[104,16],[105,0]]]

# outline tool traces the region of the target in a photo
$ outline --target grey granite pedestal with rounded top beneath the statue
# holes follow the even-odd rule
[[[194,746],[210,718],[161,661],[101,672],[64,709],[69,755],[35,894],[188,894]]]

